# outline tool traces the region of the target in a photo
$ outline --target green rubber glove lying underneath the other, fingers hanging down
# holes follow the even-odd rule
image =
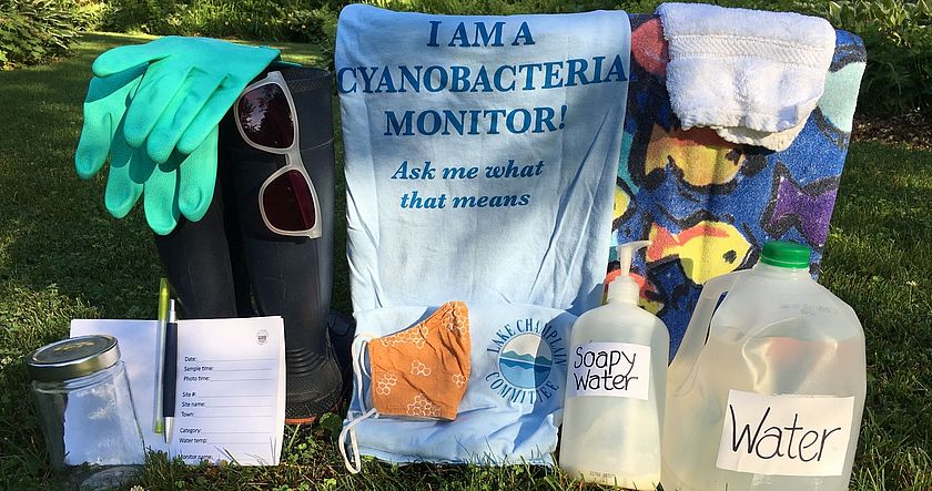
[[[79,176],[90,178],[110,154],[107,209],[122,218],[144,193],[146,222],[155,233],[165,235],[181,214],[196,222],[210,206],[216,177],[216,127],[195,152],[174,152],[161,164],[144,150],[132,149],[123,137],[123,125],[144,73],[145,65],[139,65],[91,80],[74,166]]]

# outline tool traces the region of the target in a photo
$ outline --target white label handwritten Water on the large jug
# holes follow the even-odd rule
[[[841,475],[854,398],[731,390],[716,466],[768,475]]]

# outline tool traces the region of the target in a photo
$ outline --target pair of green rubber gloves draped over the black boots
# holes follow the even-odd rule
[[[93,64],[74,154],[82,178],[110,156],[104,205],[122,218],[143,196],[160,235],[196,222],[216,180],[217,124],[278,50],[209,38],[161,38],[114,48]]]

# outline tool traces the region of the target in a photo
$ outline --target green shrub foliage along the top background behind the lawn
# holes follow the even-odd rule
[[[509,14],[625,9],[660,0],[363,0],[428,13]],[[687,0],[692,1],[692,0]],[[932,114],[932,0],[702,0],[827,18],[859,34],[868,71],[859,112]],[[75,29],[206,35],[333,47],[342,0],[0,0],[0,65],[62,54]]]

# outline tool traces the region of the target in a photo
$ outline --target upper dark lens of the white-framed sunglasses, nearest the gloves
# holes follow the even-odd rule
[[[288,99],[274,83],[260,85],[240,98],[240,127],[252,143],[287,149],[294,143],[294,122]]]

